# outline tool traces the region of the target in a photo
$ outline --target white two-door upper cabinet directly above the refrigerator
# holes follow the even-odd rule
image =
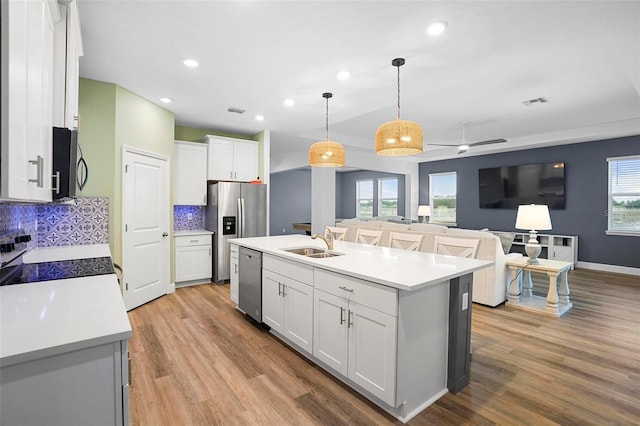
[[[258,177],[258,142],[207,135],[208,180],[249,182]]]

